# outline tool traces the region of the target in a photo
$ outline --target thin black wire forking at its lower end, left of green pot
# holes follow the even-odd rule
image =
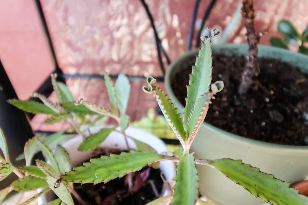
[[[164,56],[165,56],[165,58],[167,60],[168,65],[170,64],[169,57],[167,56],[167,53],[165,52],[164,48],[161,45],[160,39],[158,37],[157,31],[156,31],[156,28],[155,28],[155,25],[154,25],[154,19],[152,17],[152,14],[150,13],[148,5],[145,3],[144,0],[140,0],[140,2],[142,3],[142,6],[144,7],[144,9],[145,9],[145,11],[147,13],[148,18],[149,18],[149,20],[151,22],[151,26],[152,26],[152,28],[154,30],[155,41],[156,41],[156,49],[157,49],[157,57],[158,57],[160,69],[163,72],[163,74],[165,75],[165,68],[164,68],[164,64],[163,64],[163,61],[162,61],[162,58],[161,58],[161,55],[160,55],[160,51],[163,52],[163,54],[164,54]]]

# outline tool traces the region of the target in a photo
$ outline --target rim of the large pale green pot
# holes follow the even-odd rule
[[[283,62],[288,62],[290,65],[299,67],[303,73],[308,73],[308,56],[301,53],[295,53],[287,49],[281,49],[272,46],[258,45],[258,57],[264,58],[275,58]],[[213,45],[212,54],[223,53],[227,56],[241,56],[248,53],[247,44],[225,44],[225,45]],[[198,49],[189,51],[172,62],[169,66],[166,75],[165,75],[165,86],[166,91],[169,94],[169,98],[172,99],[172,102],[175,102],[176,107],[179,107],[179,112],[183,112],[183,105],[176,99],[174,93],[171,89],[171,79],[174,78],[175,74],[179,69],[187,68],[187,65],[194,65],[196,60],[196,55],[198,54]],[[215,68],[213,68],[215,69]],[[215,102],[213,102],[215,103]],[[307,151],[308,146],[290,146],[290,145],[281,145],[273,144],[268,142],[261,142],[257,140],[248,139],[242,136],[234,135],[229,132],[225,132],[219,128],[214,127],[208,123],[203,123],[202,126],[205,126],[207,129],[210,129],[214,132],[225,135],[226,137],[233,138],[234,140],[244,141],[246,143],[252,143],[254,145],[259,145],[262,147],[271,147],[275,149],[284,149],[289,151]]]

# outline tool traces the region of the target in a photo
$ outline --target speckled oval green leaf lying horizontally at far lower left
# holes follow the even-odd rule
[[[46,182],[46,179],[37,178],[35,176],[25,176],[11,183],[11,187],[19,192],[33,191],[47,186],[48,183]]]

